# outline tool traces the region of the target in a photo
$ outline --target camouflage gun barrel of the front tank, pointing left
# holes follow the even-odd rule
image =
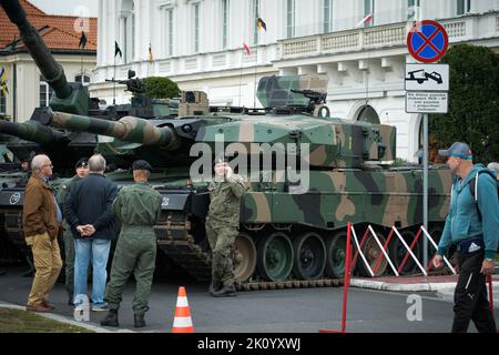
[[[169,126],[156,126],[150,120],[124,116],[108,121],[64,112],[51,112],[43,116],[42,124],[72,132],[89,132],[113,136],[120,141],[144,145],[175,146],[176,132]]]

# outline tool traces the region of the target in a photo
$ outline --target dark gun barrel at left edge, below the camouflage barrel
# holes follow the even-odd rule
[[[18,136],[26,141],[37,142],[41,144],[53,143],[63,138],[63,133],[54,131],[35,121],[24,123],[16,123],[0,120],[0,133]]]

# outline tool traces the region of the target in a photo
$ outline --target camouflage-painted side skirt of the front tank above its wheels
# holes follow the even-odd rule
[[[429,221],[447,215],[449,170],[429,171]],[[252,185],[255,187],[255,184]],[[249,191],[242,203],[242,223],[299,224],[324,230],[347,222],[407,227],[422,223],[422,171],[310,171],[310,191],[289,194],[284,184],[273,192]]]

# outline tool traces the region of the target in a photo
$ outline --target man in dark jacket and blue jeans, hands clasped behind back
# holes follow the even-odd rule
[[[74,236],[74,297],[86,295],[86,273],[92,256],[92,311],[106,311],[105,267],[111,240],[116,234],[112,204],[118,187],[104,176],[105,160],[102,155],[89,159],[89,175],[74,183],[65,200],[65,216]]]

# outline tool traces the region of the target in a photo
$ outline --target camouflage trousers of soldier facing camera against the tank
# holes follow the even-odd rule
[[[206,222],[206,235],[212,247],[212,280],[224,286],[234,284],[233,250],[237,227],[221,222]]]

